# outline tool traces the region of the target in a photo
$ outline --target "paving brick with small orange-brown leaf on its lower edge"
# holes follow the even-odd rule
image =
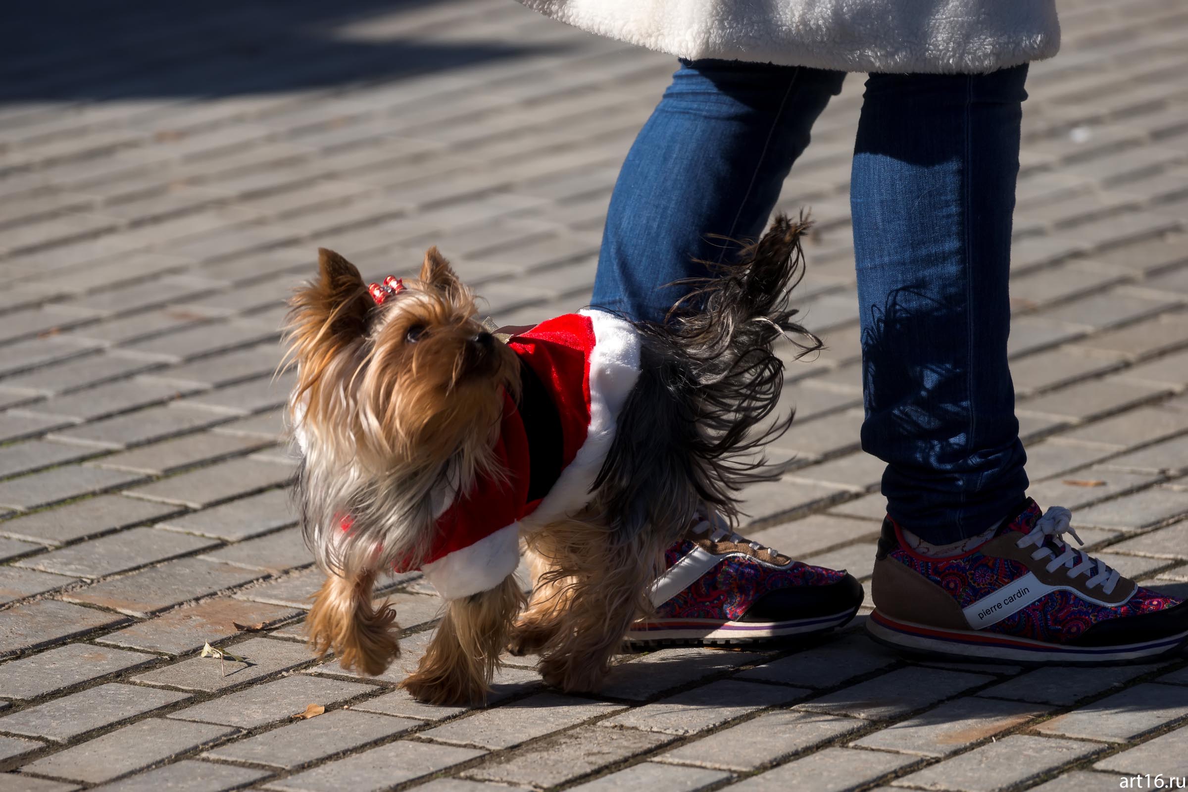
[[[187,707],[169,717],[254,729],[303,712],[309,704],[329,708],[374,690],[374,685],[298,674]]]

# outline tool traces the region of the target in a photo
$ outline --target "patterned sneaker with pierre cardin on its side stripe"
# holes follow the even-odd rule
[[[1188,640],[1188,603],[1144,589],[1061,538],[1072,513],[1028,499],[977,547],[909,547],[891,518],[874,562],[871,635],[911,653],[1003,663],[1149,660]]]

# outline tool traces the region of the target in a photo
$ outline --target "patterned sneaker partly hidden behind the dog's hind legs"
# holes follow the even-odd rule
[[[862,603],[845,570],[810,566],[697,519],[664,555],[652,584],[656,613],[627,633],[631,645],[753,644],[841,627]]]

